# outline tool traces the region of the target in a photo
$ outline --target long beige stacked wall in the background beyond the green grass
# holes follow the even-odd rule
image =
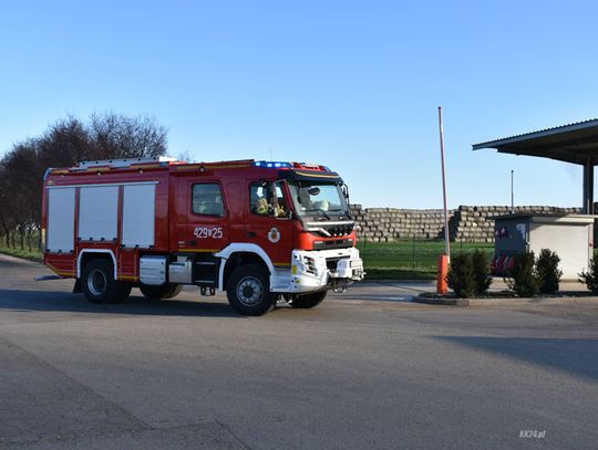
[[[441,209],[362,208],[352,205],[353,217],[360,226],[359,237],[369,242],[392,242],[398,239],[443,239],[444,224]],[[448,232],[452,241],[494,242],[493,216],[509,213],[509,207],[460,206],[448,211]],[[547,206],[515,207],[515,212],[580,213],[580,208]]]

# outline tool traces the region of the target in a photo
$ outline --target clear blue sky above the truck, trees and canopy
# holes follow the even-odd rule
[[[581,203],[581,168],[473,143],[598,116],[591,1],[2,1],[0,154],[68,114],[171,154],[303,160],[368,207]]]

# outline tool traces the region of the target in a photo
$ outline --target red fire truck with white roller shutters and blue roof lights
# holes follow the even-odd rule
[[[293,307],[363,279],[340,176],[324,166],[169,158],[81,163],[44,177],[44,263],[91,302],[132,287],[226,291],[240,314]]]

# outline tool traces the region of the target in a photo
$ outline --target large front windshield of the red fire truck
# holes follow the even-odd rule
[[[347,200],[338,184],[289,182],[295,209],[299,216],[316,220],[349,218]]]

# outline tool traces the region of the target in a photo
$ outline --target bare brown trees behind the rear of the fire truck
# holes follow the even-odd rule
[[[0,247],[41,249],[43,175],[85,160],[164,156],[166,127],[146,116],[69,116],[38,137],[14,144],[0,159]]]

